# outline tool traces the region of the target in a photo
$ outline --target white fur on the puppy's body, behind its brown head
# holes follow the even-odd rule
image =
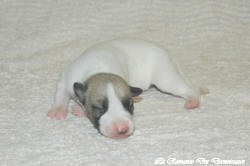
[[[117,74],[143,90],[155,84],[162,91],[199,99],[199,93],[184,81],[163,48],[144,40],[117,39],[87,49],[63,72],[53,108],[67,105],[74,96],[74,82],[84,82],[100,72]]]

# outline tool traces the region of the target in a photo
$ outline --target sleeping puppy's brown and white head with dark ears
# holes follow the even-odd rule
[[[74,83],[74,92],[89,120],[103,135],[125,138],[134,131],[132,97],[142,93],[114,74],[96,74],[84,84]]]

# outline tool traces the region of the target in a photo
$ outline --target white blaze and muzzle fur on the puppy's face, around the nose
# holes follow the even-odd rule
[[[114,124],[123,122],[129,129],[126,135],[130,135],[134,131],[132,116],[122,106],[111,83],[107,85],[107,98],[109,107],[107,112],[102,115],[99,120],[100,132],[106,136],[117,135],[114,130]]]

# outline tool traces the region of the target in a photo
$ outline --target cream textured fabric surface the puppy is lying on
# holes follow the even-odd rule
[[[124,140],[71,113],[47,118],[61,71],[117,37],[166,48],[193,84],[210,89],[201,107],[185,110],[183,99],[150,89]],[[158,157],[250,165],[250,1],[1,0],[0,70],[0,165],[147,166]]]

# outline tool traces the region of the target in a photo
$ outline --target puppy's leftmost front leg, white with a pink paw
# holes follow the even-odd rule
[[[59,82],[56,90],[54,104],[51,110],[48,112],[48,116],[52,119],[65,119],[67,116],[67,106],[69,103],[69,93],[64,85]]]

